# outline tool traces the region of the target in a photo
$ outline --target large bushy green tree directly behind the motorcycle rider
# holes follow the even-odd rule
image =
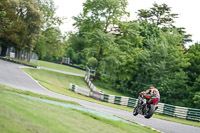
[[[123,90],[132,93],[135,97],[138,92],[155,86],[161,93],[161,102],[183,105],[187,104],[187,74],[188,59],[182,46],[178,45],[181,36],[177,32],[162,33],[157,39],[150,39],[148,49],[140,50],[135,54],[129,78],[121,80]],[[128,66],[128,65],[127,65]]]

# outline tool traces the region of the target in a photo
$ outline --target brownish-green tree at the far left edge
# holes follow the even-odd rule
[[[3,51],[10,46],[32,51],[42,25],[38,3],[34,0],[3,0],[0,6],[3,13],[0,34]]]

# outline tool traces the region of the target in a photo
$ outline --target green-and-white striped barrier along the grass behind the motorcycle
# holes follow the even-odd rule
[[[114,95],[97,92],[96,87],[92,84],[92,82],[89,80],[87,76],[85,76],[85,81],[87,82],[89,88],[91,89],[90,97],[93,97],[95,99],[98,99],[104,102],[114,103],[114,104],[123,105],[123,106],[131,107],[131,108],[134,108],[137,106],[138,99],[136,98],[114,96]],[[71,90],[75,90],[76,92],[75,85],[74,86],[70,85],[70,88]],[[83,95],[85,94],[86,93],[84,93]],[[174,106],[174,105],[165,104],[165,103],[159,103],[157,106],[158,106],[158,109],[156,110],[157,113],[164,114],[171,117],[183,118],[187,120],[200,122],[200,109]]]

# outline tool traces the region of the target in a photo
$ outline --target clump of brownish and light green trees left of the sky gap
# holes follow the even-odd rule
[[[1,55],[14,47],[35,51],[40,59],[61,58],[67,44],[59,29],[62,19],[55,13],[53,0],[1,0]]]

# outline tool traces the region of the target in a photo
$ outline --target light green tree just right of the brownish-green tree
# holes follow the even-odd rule
[[[62,24],[62,19],[55,15],[56,7],[53,0],[39,2],[44,24],[35,43],[34,51],[39,55],[39,59],[59,60],[64,55],[66,48],[66,37],[58,28]]]

